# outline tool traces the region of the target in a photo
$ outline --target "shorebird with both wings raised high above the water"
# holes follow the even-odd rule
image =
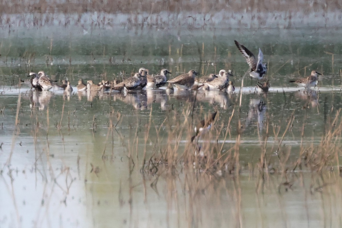
[[[256,78],[258,80],[263,79],[267,72],[267,64],[262,63],[264,55],[262,54],[261,49],[259,48],[258,59],[256,59],[253,53],[249,51],[244,45],[240,44],[236,40],[234,40],[234,42],[242,55],[245,56],[247,63],[250,66],[251,70],[249,71],[249,75],[252,78]]]

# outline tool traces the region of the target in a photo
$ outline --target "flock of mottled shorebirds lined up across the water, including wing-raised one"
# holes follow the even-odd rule
[[[258,79],[256,85],[259,92],[268,92],[270,87],[268,80],[260,83],[259,80],[264,79],[267,72],[267,64],[263,63],[263,53],[259,48],[258,57],[255,57],[251,51],[249,51],[244,45],[235,40],[235,44],[242,55],[246,58],[249,65],[249,75],[252,78]],[[133,77],[127,78],[122,82],[114,80],[112,82],[102,81],[98,84],[93,83],[92,80],[84,83],[82,79],[78,81],[76,85],[77,91],[117,91],[117,92],[129,92],[135,90],[141,90],[143,88],[161,88],[167,86],[165,89],[168,93],[171,93],[175,86],[179,90],[223,90],[228,93],[232,93],[235,90],[235,86],[232,81],[229,80],[233,76],[231,70],[220,70],[218,75],[210,74],[209,76],[197,78],[198,73],[195,70],[190,70],[188,73],[177,76],[171,80],[168,80],[168,74],[171,74],[167,69],[162,69],[157,75],[150,75],[149,70],[140,68],[139,72],[135,73]],[[290,80],[289,82],[296,83],[298,86],[310,88],[316,86],[318,82],[318,75],[321,75],[317,71],[313,70],[311,75],[298,79]],[[62,85],[55,84],[56,81],[52,81],[44,71],[39,71],[38,74],[31,72],[30,77],[27,80],[21,80],[27,85],[31,85],[32,88],[38,91],[48,90],[65,90],[72,92],[73,88],[70,86],[70,82],[63,80]]]

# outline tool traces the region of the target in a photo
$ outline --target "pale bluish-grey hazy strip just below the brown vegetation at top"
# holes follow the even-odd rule
[[[37,28],[42,26],[80,26],[84,29],[182,29],[204,30],[214,29],[300,29],[300,28],[340,28],[342,13],[338,10],[325,12],[311,11],[275,11],[275,12],[234,12],[221,10],[215,13],[194,13],[182,11],[173,13],[22,13],[2,14],[0,27],[13,29],[17,27]]]

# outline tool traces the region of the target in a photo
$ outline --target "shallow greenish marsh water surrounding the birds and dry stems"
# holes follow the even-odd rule
[[[332,39],[338,31],[123,31],[56,26],[1,33],[0,227],[341,226],[340,153],[322,172],[295,169],[302,149],[319,147],[336,115],[341,119],[342,43]],[[271,83],[267,95],[258,94],[246,77],[240,111],[248,66],[234,39],[263,50]],[[153,73],[166,67],[172,77],[192,68],[201,75],[232,69],[236,93],[88,96],[76,88],[66,95],[18,86],[30,71],[75,85],[79,78],[120,79],[142,66]],[[313,69],[323,76],[312,92],[288,83]],[[144,153],[160,157],[168,140],[179,143],[179,155],[187,150],[193,133],[183,111],[194,100],[193,124],[215,108],[219,113],[212,135],[199,142],[227,153],[238,144],[239,167],[142,172]],[[170,129],[180,126],[183,134],[173,137]],[[260,168],[264,147],[268,166]]]

